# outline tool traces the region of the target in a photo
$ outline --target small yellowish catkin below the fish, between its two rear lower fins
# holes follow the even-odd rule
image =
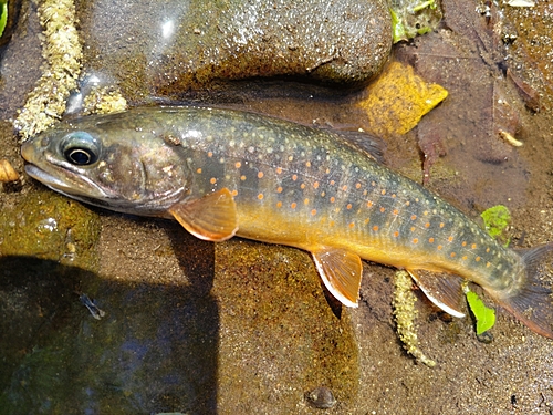
[[[396,319],[396,330],[399,335],[404,349],[414,356],[418,362],[434,367],[436,362],[428,359],[418,349],[417,328],[415,325],[415,318],[417,310],[415,310],[415,302],[417,298],[411,291],[413,281],[406,271],[397,271],[394,279],[394,317]]]

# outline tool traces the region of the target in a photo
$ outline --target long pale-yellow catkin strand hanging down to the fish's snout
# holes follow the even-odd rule
[[[77,86],[82,48],[75,28],[73,0],[43,0],[38,14],[43,28],[43,73],[14,121],[23,139],[51,126],[65,111],[65,100]]]

